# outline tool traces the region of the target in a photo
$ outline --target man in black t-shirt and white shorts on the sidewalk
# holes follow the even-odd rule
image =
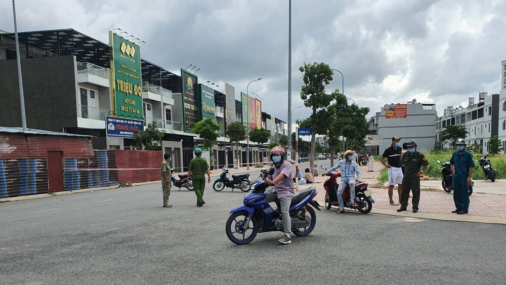
[[[381,163],[388,168],[388,198],[390,200],[390,205],[398,206],[401,201],[401,193],[402,193],[402,164],[401,164],[401,154],[402,149],[399,147],[401,138],[395,136],[392,138],[392,145],[385,149],[381,156]],[[385,162],[385,158],[388,159],[388,164]],[[397,195],[399,202],[394,202],[394,186],[397,184]]]

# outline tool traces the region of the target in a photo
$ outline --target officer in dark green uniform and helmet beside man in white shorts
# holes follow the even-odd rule
[[[402,178],[401,208],[397,209],[397,212],[406,211],[409,191],[412,191],[413,213],[416,213],[420,202],[420,176],[424,175],[429,161],[425,155],[416,151],[416,141],[409,140],[406,146],[408,152],[404,154],[401,161],[405,168],[404,178]],[[421,166],[424,166],[424,169],[420,171]]]

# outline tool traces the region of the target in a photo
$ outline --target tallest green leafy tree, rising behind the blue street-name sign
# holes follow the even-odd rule
[[[312,114],[309,118],[300,121],[301,127],[309,127],[311,132],[311,149],[315,149],[316,134],[326,134],[325,123],[330,123],[326,108],[335,100],[336,92],[325,93],[325,86],[332,80],[334,74],[325,63],[306,64],[299,68],[302,72],[304,85],[301,88],[301,99],[304,106],[311,108]],[[338,91],[338,90],[336,90]],[[314,151],[311,151],[309,160],[314,164]]]

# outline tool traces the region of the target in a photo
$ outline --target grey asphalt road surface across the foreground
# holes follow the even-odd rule
[[[252,178],[258,172],[252,172]],[[506,226],[342,215],[322,208],[315,230],[237,246],[225,234],[244,193],[161,185],[0,204],[2,284],[504,284]]]

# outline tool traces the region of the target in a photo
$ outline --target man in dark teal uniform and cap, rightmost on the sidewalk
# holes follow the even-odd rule
[[[450,159],[451,173],[453,174],[453,202],[458,215],[469,212],[469,184],[473,175],[473,154],[466,149],[466,140],[458,139],[455,143],[457,151]]]

